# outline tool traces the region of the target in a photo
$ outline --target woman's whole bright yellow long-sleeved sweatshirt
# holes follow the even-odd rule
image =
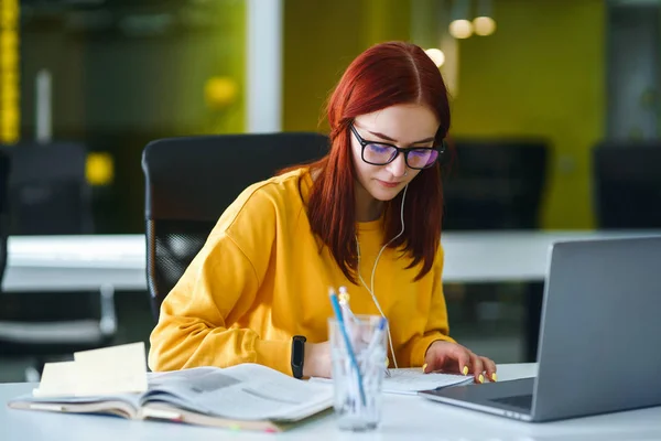
[[[356,314],[378,314],[367,289],[346,279],[327,247],[319,254],[305,212],[311,186],[307,169],[300,169],[251,185],[226,209],[161,306],[151,334],[152,370],[259,363],[292,375],[293,335],[328,340],[328,287],[346,286]],[[368,287],[383,244],[381,225],[357,225]],[[442,248],[418,282],[420,268],[405,270],[409,262],[386,249],[375,276],[400,367],[421,366],[432,342],[452,341]]]

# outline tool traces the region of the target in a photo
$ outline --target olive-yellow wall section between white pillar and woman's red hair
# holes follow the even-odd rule
[[[344,69],[371,44],[409,39],[410,2],[284,2],[283,130],[327,130],[324,106]]]

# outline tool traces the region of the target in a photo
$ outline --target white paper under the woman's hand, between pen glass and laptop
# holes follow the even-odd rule
[[[441,389],[474,380],[473,376],[457,374],[424,374],[420,367],[388,369],[388,372],[389,375],[383,378],[383,392],[386,394],[418,395],[421,390]],[[329,378],[312,378],[311,383],[330,385],[333,380]]]

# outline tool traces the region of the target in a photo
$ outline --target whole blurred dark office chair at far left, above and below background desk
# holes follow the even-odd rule
[[[14,236],[94,232],[86,151],[76,143],[3,146],[11,157],[9,233]],[[46,359],[111,343],[117,331],[112,287],[98,291],[4,292],[0,298],[0,354]]]

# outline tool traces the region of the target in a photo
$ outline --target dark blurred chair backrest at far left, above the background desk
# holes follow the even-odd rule
[[[11,235],[93,233],[85,147],[69,142],[2,147],[11,155]]]

